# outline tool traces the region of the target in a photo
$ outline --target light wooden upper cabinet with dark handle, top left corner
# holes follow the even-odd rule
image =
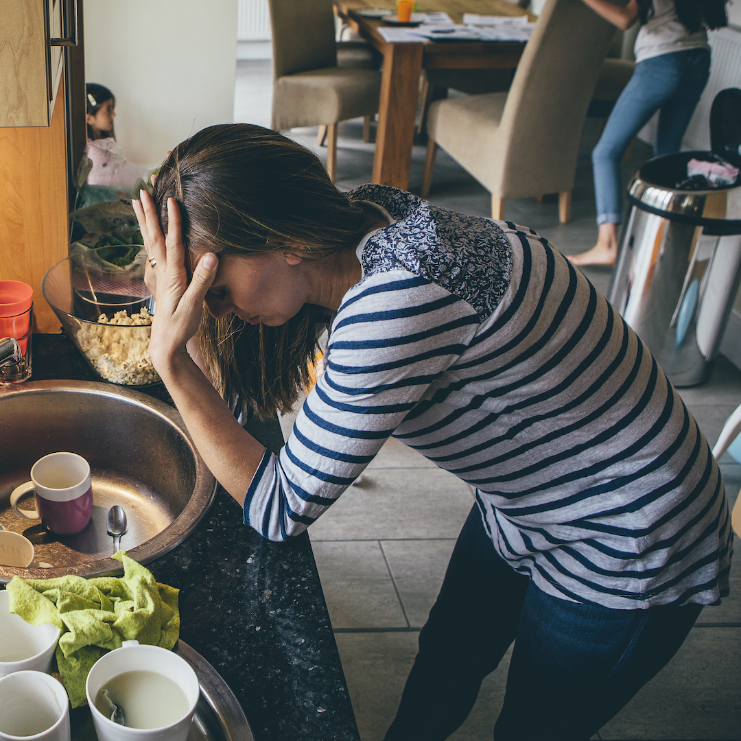
[[[0,127],[50,125],[73,1],[0,0]]]

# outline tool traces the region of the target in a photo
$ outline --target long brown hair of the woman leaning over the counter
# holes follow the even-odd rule
[[[337,190],[305,147],[250,124],[205,128],[170,153],[154,188],[163,231],[170,197],[195,255],[250,257],[302,246],[305,259],[324,259],[355,247],[378,218]],[[328,315],[305,304],[270,327],[204,311],[199,347],[216,389],[230,404],[251,403],[262,417],[289,411],[308,388]]]

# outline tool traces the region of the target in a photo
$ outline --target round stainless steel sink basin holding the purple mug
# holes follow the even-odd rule
[[[71,451],[90,462],[93,519],[73,536],[47,533],[38,520],[20,519],[10,492],[30,480],[47,453]],[[99,576],[122,569],[113,560],[106,518],[126,511],[121,548],[147,563],[182,542],[206,514],[216,480],[185,430],[179,413],[144,393],[87,381],[32,381],[0,387],[0,525],[33,542],[32,568],[0,565],[0,583],[18,574],[50,579]],[[33,502],[20,502],[33,508]]]

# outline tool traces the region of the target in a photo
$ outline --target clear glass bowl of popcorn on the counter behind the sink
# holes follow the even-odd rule
[[[104,381],[159,383],[149,354],[154,298],[142,245],[79,251],[48,270],[41,293],[90,368]]]

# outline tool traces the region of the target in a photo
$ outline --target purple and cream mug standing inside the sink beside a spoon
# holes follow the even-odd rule
[[[21,510],[21,496],[36,492],[36,510]],[[50,453],[31,468],[31,480],[13,489],[10,506],[19,517],[40,519],[48,531],[73,535],[93,515],[90,464],[77,453]]]

